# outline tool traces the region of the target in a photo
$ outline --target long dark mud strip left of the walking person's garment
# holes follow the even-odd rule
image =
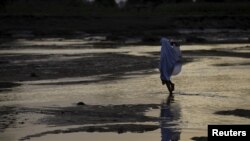
[[[60,57],[77,57],[61,61]],[[52,59],[48,59],[52,58]],[[121,53],[90,53],[80,55],[1,55],[0,81],[25,81],[81,77],[100,74],[121,74],[157,67],[156,57],[133,56]],[[112,76],[111,76],[112,77]]]

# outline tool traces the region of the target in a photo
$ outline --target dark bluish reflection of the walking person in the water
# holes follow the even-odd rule
[[[174,96],[169,95],[166,102],[161,104],[161,141],[178,141],[180,140],[180,132],[176,131],[170,127],[169,122],[172,121],[175,117],[173,112],[171,112],[171,103],[174,101]]]

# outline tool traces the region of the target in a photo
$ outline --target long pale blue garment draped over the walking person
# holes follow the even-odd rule
[[[182,67],[180,47],[172,47],[167,38],[161,38],[161,80],[169,81],[171,75],[180,73]]]

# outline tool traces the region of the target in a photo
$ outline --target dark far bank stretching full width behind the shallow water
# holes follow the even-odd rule
[[[250,40],[250,16],[82,17],[1,16],[0,37],[81,38],[104,35],[107,40],[158,43],[161,36],[183,43],[246,43]]]

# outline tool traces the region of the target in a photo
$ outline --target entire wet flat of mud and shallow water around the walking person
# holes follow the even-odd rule
[[[208,124],[250,123],[250,44],[183,45],[168,97],[160,46],[95,42],[1,44],[0,140],[200,141]]]

